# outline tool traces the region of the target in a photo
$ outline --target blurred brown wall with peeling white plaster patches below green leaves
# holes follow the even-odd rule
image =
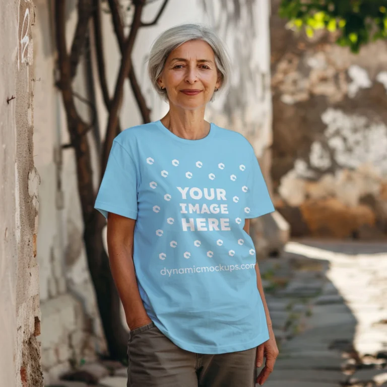
[[[387,44],[285,28],[272,2],[272,177],[294,236],[387,234]]]

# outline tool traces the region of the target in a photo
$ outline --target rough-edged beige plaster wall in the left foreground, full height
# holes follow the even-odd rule
[[[0,379],[42,387],[36,233],[39,175],[34,167],[34,6],[0,13]]]

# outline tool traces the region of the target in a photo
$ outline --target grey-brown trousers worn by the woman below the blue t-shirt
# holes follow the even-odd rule
[[[130,332],[127,387],[253,387],[256,347],[207,355],[185,351],[153,322]]]

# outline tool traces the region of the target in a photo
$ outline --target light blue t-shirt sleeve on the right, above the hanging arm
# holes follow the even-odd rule
[[[257,218],[275,211],[260,164],[254,153],[251,159],[247,187],[247,207],[250,211],[245,215],[246,219]]]

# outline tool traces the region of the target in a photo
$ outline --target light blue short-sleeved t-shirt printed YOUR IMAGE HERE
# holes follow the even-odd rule
[[[141,298],[173,343],[218,354],[269,339],[243,226],[274,207],[245,137],[214,123],[200,140],[161,121],[128,128],[113,142],[95,208],[137,219]]]

